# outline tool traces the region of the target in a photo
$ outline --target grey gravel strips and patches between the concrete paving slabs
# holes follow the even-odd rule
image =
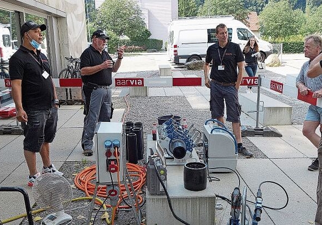
[[[187,71],[180,70],[184,74],[196,74],[197,76],[203,76],[203,71]],[[270,71],[258,71],[262,76],[274,79],[276,81],[285,82],[285,77],[275,74]],[[151,77],[158,76],[158,71],[144,71],[138,72],[138,77]],[[254,92],[257,88],[252,89]],[[246,93],[246,87],[240,87],[241,93]],[[292,124],[303,124],[303,118],[306,114],[308,104],[302,101],[295,100],[285,95],[277,95],[264,88],[261,89],[261,93],[268,95],[274,99],[280,100],[288,105],[293,106],[292,111]],[[157,117],[164,115],[177,115],[181,118],[187,118],[188,126],[194,124],[199,131],[202,131],[202,124],[210,118],[210,111],[207,109],[193,109],[187,99],[184,96],[127,96],[113,97],[113,105],[115,108],[126,108],[128,104],[128,112],[125,114],[125,121],[142,122],[143,123],[143,135],[144,145],[146,149],[146,135],[151,134],[152,124],[157,123]],[[231,130],[231,123],[227,123],[227,126]],[[254,158],[267,158],[247,137],[243,137],[244,146],[254,154]],[[197,150],[202,150],[199,148]],[[244,158],[239,155],[238,158]],[[251,160],[251,159],[250,159]],[[139,161],[139,164],[143,165],[144,160]],[[83,162],[65,162],[60,171],[64,173],[64,177],[73,185],[74,174],[82,171],[85,167],[95,164],[93,161],[84,160]],[[143,189],[144,190],[144,189]],[[73,188],[73,197],[85,196],[85,193],[81,190]],[[142,193],[144,196],[144,193]],[[76,201],[70,204],[67,213],[71,214],[73,221],[70,224],[86,224],[86,218],[90,209],[89,201]],[[41,217],[46,216],[47,213],[39,213]],[[93,213],[93,216],[96,212]],[[104,220],[99,217],[102,213],[98,213],[98,218],[95,224],[106,224]],[[142,207],[142,221],[145,220],[145,206]],[[26,220],[22,224],[28,224]],[[41,224],[41,221],[35,222],[35,224]],[[136,224],[132,211],[119,211],[115,224]]]

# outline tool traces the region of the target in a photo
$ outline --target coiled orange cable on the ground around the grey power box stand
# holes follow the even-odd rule
[[[143,202],[143,198],[140,195],[140,192],[141,192],[142,186],[145,184],[146,169],[143,166],[132,164],[132,163],[126,163],[126,167],[129,171],[132,184],[136,192],[136,196],[138,198],[138,201],[137,199],[135,199],[135,202],[136,202],[135,205],[136,207],[138,207],[137,203],[141,204]],[[92,165],[84,169],[83,171],[79,172],[74,178],[74,184],[78,189],[83,190],[86,193],[86,196],[90,197],[90,196],[93,196],[95,191],[95,184],[91,183],[91,180],[94,180],[94,179],[96,179],[96,165]],[[133,196],[133,190],[131,190],[131,186],[129,184],[128,184],[128,188],[130,189],[131,196]],[[122,201],[121,194],[123,199],[128,197],[124,184],[120,185],[120,199],[119,199],[120,203]],[[104,197],[104,198],[107,197],[106,185],[98,186],[97,196]],[[106,207],[112,207],[112,206],[109,204],[106,204]],[[130,207],[128,205],[118,205],[118,208],[124,209],[124,208],[130,208]]]

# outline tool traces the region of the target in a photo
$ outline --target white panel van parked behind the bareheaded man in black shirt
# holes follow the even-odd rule
[[[176,64],[204,59],[208,47],[217,42],[215,29],[220,23],[227,26],[228,40],[238,44],[241,50],[248,39],[255,36],[262,62],[273,53],[270,43],[256,37],[245,24],[232,16],[192,17],[173,19],[171,22],[168,28],[169,59]]]

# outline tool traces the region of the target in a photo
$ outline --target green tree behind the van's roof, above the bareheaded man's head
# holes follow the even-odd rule
[[[245,22],[248,12],[244,7],[244,0],[205,0],[199,8],[198,16],[232,15]]]

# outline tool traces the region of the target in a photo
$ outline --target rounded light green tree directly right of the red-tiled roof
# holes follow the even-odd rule
[[[304,22],[304,14],[293,10],[287,0],[270,2],[259,15],[261,35],[271,41],[278,37],[298,34]]]

